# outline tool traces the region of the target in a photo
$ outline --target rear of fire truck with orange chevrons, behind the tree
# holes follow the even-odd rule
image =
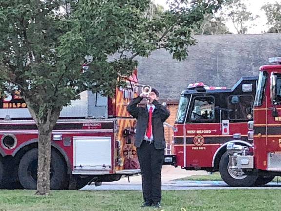
[[[138,95],[137,71],[113,98],[91,91],[64,107],[52,132],[50,186],[77,190],[140,173],[135,119],[126,106]],[[19,95],[0,100],[0,187],[36,189],[38,130]]]

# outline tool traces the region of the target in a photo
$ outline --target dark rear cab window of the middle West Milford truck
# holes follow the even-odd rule
[[[228,115],[230,120],[250,120],[253,118],[252,95],[232,95],[228,97]]]

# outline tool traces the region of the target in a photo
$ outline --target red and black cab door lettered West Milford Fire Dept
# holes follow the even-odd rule
[[[225,122],[225,126],[226,124],[227,122]],[[215,108],[215,98],[213,96],[195,96],[184,126],[185,167],[212,166],[212,152],[220,147],[222,141],[220,137],[221,122]]]

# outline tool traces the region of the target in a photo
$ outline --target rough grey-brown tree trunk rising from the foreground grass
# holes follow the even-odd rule
[[[51,135],[48,124],[38,127],[37,195],[50,194]]]

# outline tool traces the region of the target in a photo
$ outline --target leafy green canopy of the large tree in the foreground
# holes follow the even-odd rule
[[[1,1],[2,93],[20,90],[33,118],[47,121],[83,90],[112,95],[137,55],[164,48],[185,59],[195,43],[192,29],[220,6],[221,0],[170,0],[169,11],[158,8],[151,17],[150,0]]]

